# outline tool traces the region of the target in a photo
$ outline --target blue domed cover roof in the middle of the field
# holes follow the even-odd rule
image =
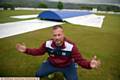
[[[65,18],[83,16],[88,14],[91,13],[88,11],[44,11],[38,15],[38,18],[63,21]]]

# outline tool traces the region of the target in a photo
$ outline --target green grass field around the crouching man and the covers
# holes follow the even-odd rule
[[[0,23],[19,21],[9,18],[11,15],[39,12],[0,11]],[[85,58],[91,59],[93,55],[97,55],[102,62],[98,69],[87,70],[79,67],[79,80],[120,80],[120,15],[102,15],[106,17],[101,29],[68,23],[62,25],[66,36],[77,44]],[[51,28],[46,28],[0,39],[0,76],[34,76],[43,60],[47,59],[47,54],[26,55],[16,51],[15,45],[24,42],[28,47],[37,48],[50,37]]]

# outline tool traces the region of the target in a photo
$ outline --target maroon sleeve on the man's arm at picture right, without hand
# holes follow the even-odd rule
[[[80,52],[77,49],[76,45],[74,45],[73,49],[72,49],[72,58],[81,67],[86,68],[86,69],[91,69],[91,67],[90,67],[90,61],[88,61],[88,60],[86,60],[86,59],[84,59],[82,57],[82,55],[80,54]]]

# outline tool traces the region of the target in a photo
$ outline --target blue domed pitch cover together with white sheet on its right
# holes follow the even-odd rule
[[[91,27],[102,27],[105,16],[98,16],[89,11],[44,11],[38,18],[56,21],[66,21],[71,24],[85,25]]]

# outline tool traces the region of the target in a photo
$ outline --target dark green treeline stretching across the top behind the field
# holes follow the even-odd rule
[[[85,9],[92,10],[96,8],[99,11],[120,12],[120,7],[105,4],[74,4],[62,2],[48,2],[46,0],[1,0],[0,8],[14,10],[15,7],[32,7],[32,8],[58,8],[58,9]]]

